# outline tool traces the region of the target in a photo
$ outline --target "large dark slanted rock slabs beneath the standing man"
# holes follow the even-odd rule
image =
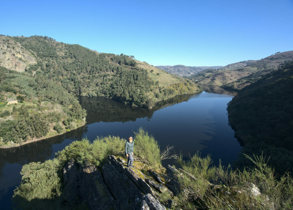
[[[99,170],[71,159],[63,168],[67,202],[72,205],[86,201],[89,209],[165,210],[157,200],[157,192],[172,192],[150,174],[145,175],[135,167],[127,168],[123,159],[118,160],[109,155]]]

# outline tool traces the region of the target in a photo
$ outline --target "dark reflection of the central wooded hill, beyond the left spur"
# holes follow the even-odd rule
[[[195,94],[178,95],[159,101],[153,109],[132,107],[130,105],[104,97],[79,97],[79,103],[86,109],[86,124],[96,122],[128,122],[147,117],[150,120],[155,111],[164,107],[188,101]]]

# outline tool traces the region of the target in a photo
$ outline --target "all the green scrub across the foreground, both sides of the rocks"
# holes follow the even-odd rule
[[[73,158],[81,164],[92,163],[101,167],[108,154],[124,156],[125,139],[108,136],[97,138],[92,143],[83,139],[69,144],[56,153],[55,158],[44,163],[32,162],[23,166],[22,182],[14,190],[13,203],[15,209],[83,209],[85,203],[77,206],[64,201],[64,185],[62,168]],[[161,160],[166,153],[160,152],[154,137],[140,128],[134,137],[134,166],[145,164],[147,169],[163,172]],[[249,158],[249,157],[248,157]],[[195,209],[292,209],[293,180],[286,173],[276,177],[274,169],[270,168],[263,156],[249,158],[255,166],[243,171],[233,171],[211,166],[210,156],[201,158],[197,152],[189,161],[177,157],[180,168],[185,171],[178,174],[182,186],[178,196],[171,197],[168,193],[159,194],[162,203],[173,199],[177,207]],[[253,196],[249,185],[258,187],[261,194]],[[27,205],[27,206],[25,206]]]

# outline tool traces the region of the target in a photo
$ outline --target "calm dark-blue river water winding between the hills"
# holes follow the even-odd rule
[[[189,94],[163,101],[151,110],[102,97],[80,97],[88,114],[84,127],[22,147],[0,149],[0,206],[4,209],[11,206],[23,164],[51,159],[72,141],[84,137],[91,141],[108,135],[126,139],[134,136],[139,127],[154,135],[161,149],[173,145],[175,152],[181,152],[185,159],[199,150],[202,156],[211,154],[214,164],[221,159],[228,165],[238,158],[241,150],[228,125],[226,107],[232,97],[207,92]],[[163,162],[166,164],[172,161]]]

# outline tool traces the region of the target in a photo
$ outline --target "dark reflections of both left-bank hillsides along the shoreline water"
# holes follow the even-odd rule
[[[132,107],[103,97],[79,97],[79,101],[83,109],[87,110],[86,125],[89,125],[96,122],[124,123],[145,117],[150,120],[156,110],[178,104],[182,101],[188,101],[193,95],[176,96],[172,99],[160,101],[153,109]],[[53,158],[55,152],[62,150],[66,146],[62,144],[65,140],[69,143],[75,140],[81,140],[84,134],[88,132],[86,125],[62,135],[24,144],[20,147],[0,149],[0,177],[2,176],[4,165],[7,163],[19,163],[23,165],[33,161],[43,162]],[[52,147],[53,145],[55,145],[54,149]]]

